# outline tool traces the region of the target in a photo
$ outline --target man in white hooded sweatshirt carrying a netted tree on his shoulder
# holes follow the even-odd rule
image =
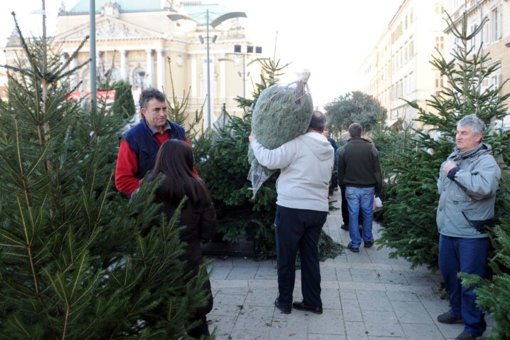
[[[333,169],[333,147],[322,135],[326,117],[314,111],[305,134],[277,149],[266,149],[255,134],[250,145],[257,161],[281,169],[275,218],[278,297],[275,306],[284,314],[292,307],[322,314],[319,235],[329,211],[328,188]],[[292,303],[296,253],[301,254],[302,302]]]

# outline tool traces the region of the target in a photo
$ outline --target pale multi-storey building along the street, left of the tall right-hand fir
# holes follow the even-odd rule
[[[386,107],[388,125],[417,117],[405,100],[430,110],[425,100],[442,85],[430,60],[436,48],[445,51],[443,14],[443,0],[404,0],[358,69],[357,90]]]

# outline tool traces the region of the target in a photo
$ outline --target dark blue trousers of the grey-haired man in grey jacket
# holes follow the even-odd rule
[[[484,277],[487,269],[489,238],[452,238],[440,235],[439,269],[450,291],[450,314],[464,322],[464,330],[473,336],[481,336],[487,324],[484,312],[476,305],[474,288],[467,289],[457,277],[459,272]]]

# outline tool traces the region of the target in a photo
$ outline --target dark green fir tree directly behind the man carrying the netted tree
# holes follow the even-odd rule
[[[237,97],[243,108],[243,117],[230,117],[225,127],[218,129],[214,138],[204,134],[193,142],[198,174],[211,189],[216,213],[218,233],[223,240],[236,242],[250,238],[255,243],[258,258],[273,257],[275,251],[275,213],[277,176],[271,176],[253,198],[251,184],[246,179],[250,169],[247,152],[248,136],[252,129],[252,110],[260,93],[279,82],[283,69],[280,60],[260,60],[262,74],[255,83],[253,99]],[[252,199],[253,198],[253,199]],[[324,260],[336,257],[342,251],[329,235],[321,234],[319,257]]]

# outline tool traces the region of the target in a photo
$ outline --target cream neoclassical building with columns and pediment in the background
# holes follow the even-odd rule
[[[53,43],[60,46],[63,61],[90,34],[89,4],[89,0],[80,0],[72,9],[59,11]],[[209,26],[207,41],[207,11],[208,22],[212,23],[230,12],[225,6],[176,0],[96,0],[95,6],[96,54],[90,55],[90,45],[85,43],[71,68],[95,58],[98,77],[109,75],[112,81],[129,81],[135,102],[147,87],[162,89],[169,97],[174,91],[180,100],[186,91],[190,98],[188,112],[195,112],[206,102],[209,42],[211,122],[221,114],[223,104],[230,114],[240,114],[234,98],[250,96],[248,75],[261,70],[260,64],[252,61],[262,57],[261,48],[255,48],[246,36],[243,20],[247,19],[235,17],[215,28]],[[172,21],[171,14],[191,20]],[[19,51],[16,36],[11,36],[6,46],[7,63],[13,63]],[[73,85],[80,84],[78,90],[83,93],[90,90],[89,67],[71,79]],[[208,126],[206,105],[203,112]]]

